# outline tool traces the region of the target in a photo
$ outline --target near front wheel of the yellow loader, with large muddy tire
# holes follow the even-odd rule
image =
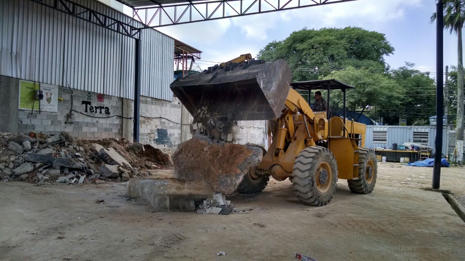
[[[331,150],[312,146],[302,150],[294,163],[292,183],[297,198],[306,205],[324,206],[336,192],[338,165]]]

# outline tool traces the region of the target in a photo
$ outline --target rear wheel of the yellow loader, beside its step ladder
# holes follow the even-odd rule
[[[359,147],[359,178],[356,180],[347,180],[349,189],[353,193],[372,193],[375,187],[377,176],[378,164],[376,161],[375,151],[372,149]]]

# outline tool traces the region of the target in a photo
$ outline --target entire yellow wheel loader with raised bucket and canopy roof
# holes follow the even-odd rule
[[[354,193],[371,193],[377,161],[374,151],[364,147],[366,125],[348,121],[345,110],[343,117],[330,110],[330,93],[342,91],[345,108],[345,93],[353,87],[337,80],[291,82],[291,76],[282,59],[266,63],[249,57],[178,78],[170,87],[194,119],[208,111],[227,115],[231,123],[268,120],[272,144],[245,174],[239,192],[258,193],[272,176],[289,179],[297,198],[312,206],[331,201],[339,178]],[[319,105],[307,103],[296,90],[308,91],[309,99],[311,91],[326,90],[327,110],[313,111]]]

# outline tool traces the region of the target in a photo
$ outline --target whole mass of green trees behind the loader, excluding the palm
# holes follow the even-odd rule
[[[285,59],[292,81],[337,79],[355,86],[346,93],[347,110],[362,112],[385,124],[428,124],[435,115],[435,81],[414,70],[413,63],[391,69],[385,56],[394,52],[385,35],[359,27],[306,28],[282,41],[272,41],[259,59]],[[342,93],[332,92],[330,108],[342,108]],[[325,97],[325,96],[324,96]],[[357,117],[355,117],[357,118]]]

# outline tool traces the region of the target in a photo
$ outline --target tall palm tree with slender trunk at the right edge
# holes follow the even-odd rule
[[[465,24],[465,0],[443,0],[444,28],[457,34],[457,132],[455,136],[455,151],[457,163],[463,164],[464,145],[464,67],[462,55],[462,28]],[[436,20],[436,13],[431,16],[431,22]],[[446,79],[447,80],[447,79]],[[439,119],[438,119],[439,120]]]

